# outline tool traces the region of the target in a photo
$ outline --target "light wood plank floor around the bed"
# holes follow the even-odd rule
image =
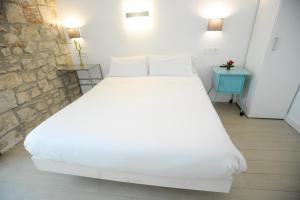
[[[215,104],[248,170],[229,194],[143,186],[37,171],[19,144],[0,157],[0,199],[28,200],[295,200],[300,199],[300,134],[282,120],[240,117],[236,105]]]

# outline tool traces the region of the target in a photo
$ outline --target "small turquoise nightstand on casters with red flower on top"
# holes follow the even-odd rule
[[[246,77],[250,75],[249,71],[243,67],[233,67],[230,70],[227,70],[226,67],[214,67],[213,72],[213,88],[216,93],[232,94],[232,98],[229,103],[232,103],[233,95],[238,95],[241,104],[240,115],[243,116],[244,110],[242,105],[242,93]],[[209,90],[209,92],[210,91],[211,89]]]

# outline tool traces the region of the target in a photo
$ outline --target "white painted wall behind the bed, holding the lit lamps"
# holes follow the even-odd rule
[[[208,89],[212,66],[227,59],[244,63],[258,0],[138,0],[152,6],[144,31],[129,30],[123,13],[128,1],[57,0],[62,20],[75,16],[82,21],[86,62],[100,63],[104,74],[110,56],[190,53]],[[222,32],[206,31],[209,16],[225,17]],[[219,49],[216,55],[205,53],[211,47]]]

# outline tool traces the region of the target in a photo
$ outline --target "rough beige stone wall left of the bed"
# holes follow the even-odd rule
[[[80,96],[55,0],[0,0],[0,154]]]

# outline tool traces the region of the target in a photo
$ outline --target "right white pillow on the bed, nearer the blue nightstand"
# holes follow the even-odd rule
[[[191,56],[150,56],[150,76],[191,76]]]

